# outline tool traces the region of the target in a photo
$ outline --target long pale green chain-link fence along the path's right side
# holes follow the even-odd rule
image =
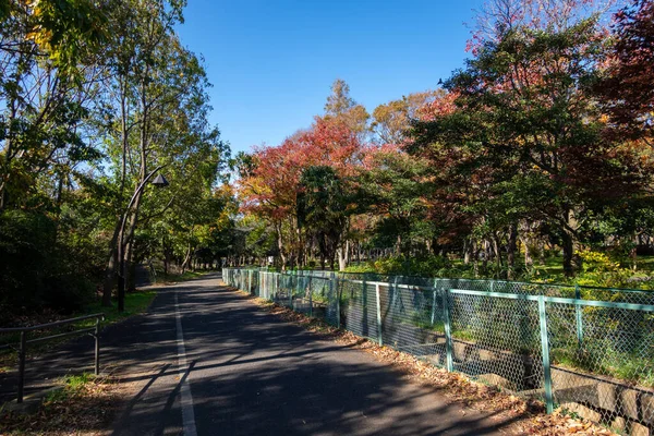
[[[225,268],[223,281],[622,434],[654,427],[654,293]]]

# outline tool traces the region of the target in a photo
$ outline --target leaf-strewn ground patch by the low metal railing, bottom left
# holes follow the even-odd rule
[[[34,414],[0,411],[1,435],[107,434],[124,398],[113,376],[82,375],[61,380]]]

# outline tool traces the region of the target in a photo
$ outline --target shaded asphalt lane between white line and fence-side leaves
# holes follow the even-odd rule
[[[494,416],[450,403],[214,280],[178,296],[198,435],[500,434]]]

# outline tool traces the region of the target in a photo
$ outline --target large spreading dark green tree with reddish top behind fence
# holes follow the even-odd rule
[[[572,275],[584,211],[638,190],[640,181],[634,156],[603,141],[602,114],[588,92],[604,59],[596,19],[562,28],[512,27],[487,41],[446,85],[460,109],[419,124],[411,148],[468,150],[475,202],[510,190],[531,219],[557,229]],[[502,187],[494,194],[483,186]]]

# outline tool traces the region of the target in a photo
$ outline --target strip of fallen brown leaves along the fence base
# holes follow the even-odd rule
[[[601,427],[590,421],[573,419],[557,410],[553,414],[545,414],[540,401],[524,400],[506,393],[496,387],[486,386],[471,380],[460,373],[448,373],[431,363],[421,361],[415,356],[379,347],[375,342],[361,338],[350,331],[337,329],[325,322],[293,312],[292,310],[275,304],[268,300],[246,295],[258,306],[279,316],[286,322],[293,323],[308,331],[320,335],[342,344],[354,347],[372,354],[376,360],[391,365],[402,373],[407,379],[436,388],[452,401],[462,402],[475,410],[496,412],[494,420],[498,422],[512,421],[510,431],[513,434],[531,435],[614,435],[607,428]]]

